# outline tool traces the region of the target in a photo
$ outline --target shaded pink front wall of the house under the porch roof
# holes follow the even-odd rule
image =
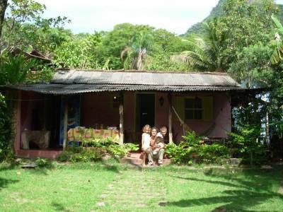
[[[124,129],[125,141],[139,141],[141,131],[136,131],[136,94],[135,92],[125,92],[124,94]],[[156,95],[156,117],[155,125],[159,128],[163,125],[168,126],[168,94],[155,93]],[[226,138],[226,131],[231,131],[231,106],[230,98],[226,93],[186,93],[174,95],[185,96],[213,96],[214,116],[212,121],[188,121],[186,124],[190,128],[202,134],[209,130],[209,138]],[[81,104],[81,125],[95,126],[95,124],[104,124],[105,126],[119,126],[120,116],[119,108],[113,107],[113,97],[119,96],[119,93],[88,93],[82,95]],[[164,103],[161,106],[159,99],[163,97]],[[173,114],[173,140],[180,141],[182,139],[183,129],[180,122]]]

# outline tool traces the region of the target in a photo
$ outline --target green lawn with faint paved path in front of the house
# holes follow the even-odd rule
[[[282,181],[282,166],[0,165],[0,211],[283,211]]]

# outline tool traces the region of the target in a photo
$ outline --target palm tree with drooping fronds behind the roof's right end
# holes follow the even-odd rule
[[[191,35],[188,42],[190,49],[182,52],[186,57],[183,61],[196,71],[225,71],[226,67],[221,58],[221,35],[217,33],[218,20],[214,18],[204,23],[204,35]]]

